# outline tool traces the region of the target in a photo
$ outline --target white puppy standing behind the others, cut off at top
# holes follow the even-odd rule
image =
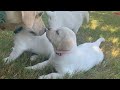
[[[89,22],[88,11],[46,11],[48,15],[48,24],[51,29],[68,27],[77,33],[84,19]]]

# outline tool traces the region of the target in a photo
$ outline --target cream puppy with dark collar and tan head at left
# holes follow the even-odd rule
[[[24,26],[20,26],[15,30],[16,35],[14,38],[13,51],[10,53],[9,57],[4,59],[6,63],[14,61],[24,51],[30,51],[45,56],[49,56],[53,52],[53,47],[46,37],[46,27],[42,21],[43,12],[22,11],[22,16],[20,13],[21,12],[18,11],[6,12],[8,23],[20,23],[22,20],[21,17],[24,23]],[[36,36],[36,34],[42,36]],[[35,60],[38,55],[34,55],[30,59]]]

